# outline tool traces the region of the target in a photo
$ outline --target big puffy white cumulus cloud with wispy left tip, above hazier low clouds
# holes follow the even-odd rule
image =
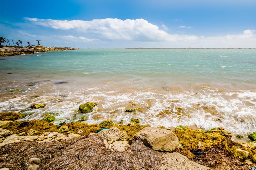
[[[50,27],[61,30],[76,30],[83,33],[93,33],[99,38],[111,40],[135,40],[135,41],[177,41],[194,40],[194,35],[173,35],[160,30],[157,25],[153,25],[144,19],[117,18],[94,19],[91,21],[82,20],[52,20],[25,18],[35,25]],[[166,27],[167,28],[167,27]]]

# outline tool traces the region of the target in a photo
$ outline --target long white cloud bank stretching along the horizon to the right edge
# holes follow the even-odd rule
[[[117,18],[94,19],[91,21],[83,20],[53,20],[25,18],[33,25],[40,25],[47,28],[68,31],[68,35],[61,35],[70,41],[84,42],[131,42],[130,45],[140,47],[217,47],[217,48],[239,48],[256,47],[255,30],[244,30],[242,34],[221,35],[221,36],[196,36],[169,34],[169,28],[162,24],[159,28],[144,19]],[[191,28],[179,26],[179,28]],[[73,35],[72,35],[72,34]],[[136,44],[137,42],[137,44]],[[113,43],[117,45],[118,43]],[[127,46],[130,46],[127,44]],[[119,46],[115,46],[118,48]]]

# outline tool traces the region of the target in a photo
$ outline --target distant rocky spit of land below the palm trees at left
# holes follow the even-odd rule
[[[35,54],[37,52],[64,51],[64,50],[77,50],[77,48],[70,48],[70,47],[37,47],[37,46],[35,46],[35,47],[2,46],[2,48],[0,48],[0,56]]]

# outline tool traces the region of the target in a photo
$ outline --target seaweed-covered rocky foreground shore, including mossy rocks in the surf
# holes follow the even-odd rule
[[[44,104],[32,104],[41,109]],[[97,106],[79,106],[86,115]],[[126,109],[127,112],[140,108]],[[256,167],[256,132],[249,143],[231,140],[223,127],[203,131],[182,125],[175,129],[140,125],[137,118],[124,125],[107,119],[88,125],[57,121],[53,113],[41,119],[19,120],[26,112],[0,113],[0,168],[2,170],[250,170]],[[53,124],[55,121],[55,124]]]

